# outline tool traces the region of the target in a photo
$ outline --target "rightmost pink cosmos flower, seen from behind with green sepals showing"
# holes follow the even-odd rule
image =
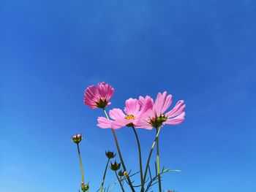
[[[148,96],[146,96],[147,98]],[[146,100],[143,96],[140,96],[140,105],[142,106]],[[180,100],[176,103],[176,106],[166,112],[172,103],[173,96],[168,95],[165,91],[164,93],[158,93],[157,99],[154,102],[153,109],[148,112],[148,116],[140,117],[140,121],[137,123],[137,126],[152,129],[158,128],[159,126],[169,124],[169,125],[178,125],[184,121],[185,117],[185,107],[183,100]],[[165,113],[166,112],[166,113]]]

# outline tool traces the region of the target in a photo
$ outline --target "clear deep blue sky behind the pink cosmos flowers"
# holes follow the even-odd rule
[[[76,133],[99,188],[116,147],[83,91],[100,81],[116,90],[108,110],[159,91],[186,102],[184,123],[160,134],[161,164],[182,171],[163,189],[255,192],[255,20],[255,0],[1,0],[0,192],[78,191]],[[132,130],[116,134],[138,171]],[[155,131],[138,134],[145,162]]]

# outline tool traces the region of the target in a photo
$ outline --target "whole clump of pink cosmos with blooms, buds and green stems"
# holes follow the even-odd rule
[[[138,145],[138,152],[139,152],[139,165],[140,165],[140,192],[148,191],[154,183],[159,184],[159,192],[162,192],[161,187],[161,174],[165,172],[169,172],[170,169],[162,168],[160,169],[160,161],[159,161],[159,133],[162,126],[165,125],[178,125],[184,121],[185,117],[185,107],[183,100],[179,100],[173,109],[170,109],[170,105],[173,101],[173,96],[167,94],[167,91],[163,93],[158,93],[156,99],[152,99],[151,96],[139,96],[138,99],[129,98],[124,102],[124,109],[121,110],[119,108],[113,108],[109,112],[106,112],[106,107],[108,107],[111,102],[110,99],[112,98],[114,93],[114,88],[105,82],[99,82],[98,85],[91,85],[84,91],[84,104],[89,106],[91,109],[100,108],[104,111],[105,117],[98,117],[97,118],[97,126],[100,128],[110,128],[113,133],[113,137],[115,139],[116,148],[118,151],[118,157],[121,163],[117,163],[116,160],[114,163],[110,162],[110,159],[116,157],[116,153],[112,151],[106,151],[105,155],[108,158],[108,162],[105,168],[105,172],[102,178],[102,184],[99,189],[100,192],[104,190],[104,181],[105,176],[108,170],[108,167],[112,169],[116,173],[116,177],[118,179],[118,183],[120,184],[121,191],[124,192],[124,180],[129,185],[129,188],[132,192],[135,192],[135,186],[133,185],[133,181],[130,180],[134,174],[129,174],[127,172],[127,167],[124,164],[124,159],[121,155],[121,149],[118,145],[118,139],[115,134],[115,130],[122,127],[132,128],[135,133],[135,137],[137,140]],[[110,118],[109,118],[110,117]],[[140,139],[136,132],[137,128],[144,128],[147,130],[151,130],[155,128],[157,130],[156,137],[151,145],[150,152],[148,154],[148,159],[146,161],[146,167],[143,172],[143,164],[142,164],[142,155],[140,150]],[[75,142],[77,145],[83,139],[81,134],[76,134],[72,137],[72,141]],[[151,176],[151,172],[149,169],[149,162],[151,160],[151,155],[154,150],[154,146],[157,145],[157,165],[156,165],[156,175],[155,177]],[[80,157],[80,150],[78,145],[78,155],[80,160],[80,169],[82,174],[82,191],[89,190],[89,184],[84,184],[83,180],[83,166],[82,160]],[[109,166],[110,164],[110,166]],[[117,173],[117,171],[120,171]],[[122,171],[122,169],[124,171]],[[147,179],[147,173],[149,169],[150,179]],[[157,181],[157,182],[156,182]],[[146,183],[148,184],[146,185]]]

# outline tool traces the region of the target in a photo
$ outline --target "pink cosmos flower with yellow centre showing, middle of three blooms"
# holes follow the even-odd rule
[[[148,111],[153,107],[153,100],[148,97],[145,99],[143,104],[140,106],[140,101],[138,99],[127,99],[125,101],[124,112],[120,109],[110,110],[110,118],[113,120],[108,120],[107,118],[99,117],[97,126],[101,128],[121,128],[124,126],[135,126],[140,120],[140,117],[145,117]]]

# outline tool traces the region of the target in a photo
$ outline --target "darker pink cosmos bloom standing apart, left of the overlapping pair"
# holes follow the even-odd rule
[[[108,83],[99,82],[98,85],[91,85],[84,91],[83,102],[91,109],[104,109],[110,105],[110,98],[113,96],[114,88]]]

